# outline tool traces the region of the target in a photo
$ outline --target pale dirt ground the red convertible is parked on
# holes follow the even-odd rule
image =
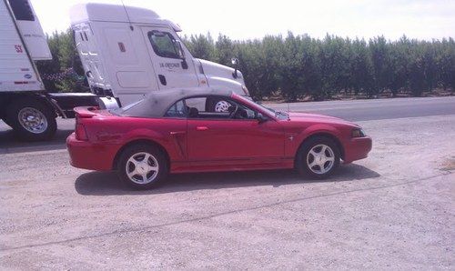
[[[0,268],[452,269],[455,115],[359,122],[369,158],[132,191],[66,150],[0,156]]]

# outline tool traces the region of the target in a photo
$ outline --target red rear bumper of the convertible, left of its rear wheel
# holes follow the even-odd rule
[[[93,144],[76,139],[75,133],[66,138],[66,148],[71,166],[78,168],[107,171],[113,169],[117,148]]]

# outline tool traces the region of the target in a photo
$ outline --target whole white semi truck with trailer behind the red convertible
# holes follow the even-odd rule
[[[0,118],[21,139],[51,138],[56,117],[74,117],[76,106],[113,109],[152,91],[214,87],[249,95],[237,59],[233,68],[193,57],[180,26],[152,10],[88,3],[73,6],[70,20],[91,93],[45,90],[35,61],[52,55],[34,8],[29,0],[0,0]]]

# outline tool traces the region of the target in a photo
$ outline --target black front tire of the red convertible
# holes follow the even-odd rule
[[[322,146],[327,146],[326,151],[324,152],[325,157],[330,157],[333,156],[333,162],[330,164],[330,161],[324,162],[324,158],[321,158],[321,160],[318,160],[316,156],[313,156],[312,154],[308,155],[311,150],[313,150],[317,155],[319,155],[322,152]],[[313,149],[314,148],[314,149]],[[319,152],[317,152],[319,151]],[[333,172],[337,169],[339,166],[339,147],[337,144],[333,141],[333,139],[326,137],[326,136],[316,136],[316,137],[311,137],[308,140],[306,140],[302,146],[298,148],[298,153],[296,157],[296,169],[298,170],[298,173],[301,176],[310,176],[316,179],[325,179],[328,178],[333,174]],[[323,167],[319,165],[314,165],[311,166],[310,164],[312,162],[317,162],[323,164]],[[328,170],[327,172],[324,172],[325,170]],[[318,173],[319,171],[319,173]]]

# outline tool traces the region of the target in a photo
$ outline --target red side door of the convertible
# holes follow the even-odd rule
[[[204,106],[198,109],[200,114]],[[284,132],[272,119],[188,117],[187,154],[193,166],[277,163],[284,156]]]

